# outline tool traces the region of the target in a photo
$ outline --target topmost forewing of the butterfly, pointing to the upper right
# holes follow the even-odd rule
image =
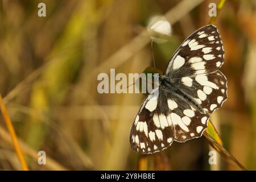
[[[180,78],[216,71],[224,63],[220,34],[213,25],[193,32],[177,49],[168,63],[165,75]]]

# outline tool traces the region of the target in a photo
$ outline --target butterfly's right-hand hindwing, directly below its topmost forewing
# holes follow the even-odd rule
[[[213,113],[228,98],[226,77],[220,72],[177,78],[176,87],[193,98],[204,113]]]

